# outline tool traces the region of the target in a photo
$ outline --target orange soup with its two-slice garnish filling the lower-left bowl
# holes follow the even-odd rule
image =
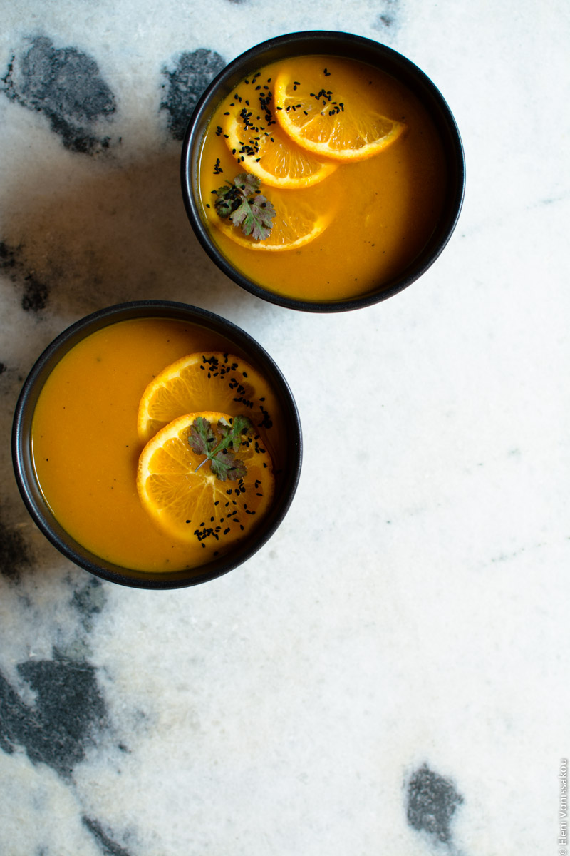
[[[33,414],[33,462],[56,519],[96,556],[139,571],[197,568],[249,534],[256,512],[261,520],[282,466],[280,423],[273,389],[231,342],[198,324],[135,318],[57,363]],[[181,531],[153,474],[166,456],[169,490],[185,502],[180,467],[172,482],[177,455],[201,497],[195,516],[184,507]],[[247,474],[226,479],[241,459]]]

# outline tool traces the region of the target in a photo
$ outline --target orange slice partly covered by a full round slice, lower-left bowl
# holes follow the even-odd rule
[[[188,354],[163,369],[144,390],[138,437],[146,443],[177,416],[204,407],[232,416],[245,413],[256,428],[269,431],[277,401],[265,378],[241,357],[220,351]]]

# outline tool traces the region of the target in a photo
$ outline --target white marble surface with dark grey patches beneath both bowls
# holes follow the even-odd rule
[[[564,856],[567,3],[21,0],[2,17],[0,852]],[[246,294],[179,193],[209,75],[308,28],[408,56],[465,145],[444,254],[360,312]],[[182,591],[63,560],[11,469],[40,351],[138,298],[242,326],[303,421],[275,537]]]

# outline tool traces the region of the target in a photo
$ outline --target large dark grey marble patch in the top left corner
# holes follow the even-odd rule
[[[0,89],[17,104],[37,110],[72,152],[95,154],[110,138],[97,123],[115,113],[115,96],[92,56],[73,46],[56,48],[47,36],[14,51]]]

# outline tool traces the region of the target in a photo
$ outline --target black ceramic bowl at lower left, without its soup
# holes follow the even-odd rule
[[[192,570],[167,573],[137,571],[106,562],[89,550],[85,550],[56,520],[50,506],[44,499],[34,469],[31,441],[32,419],[38,396],[50,372],[53,371],[59,360],[85,336],[89,336],[109,324],[126,321],[130,318],[173,318],[197,324],[216,336],[224,336],[236,348],[238,354],[242,354],[252,365],[257,366],[261,374],[266,377],[278,397],[285,421],[284,433],[287,439],[284,463],[276,476],[272,508],[250,538],[239,543],[226,555]],[[256,550],[259,550],[261,545],[265,544],[268,538],[271,538],[273,532],[284,519],[297,490],[302,461],[302,434],[297,406],[285,378],[269,354],[244,330],[225,318],[220,318],[212,312],[198,309],[195,306],[165,300],[144,300],[110,306],[107,309],[94,312],[72,324],[68,330],[64,330],[45,349],[32,367],[32,371],[21,389],[21,395],[15,409],[12,431],[12,457],[16,481],[32,519],[44,532],[46,538],[64,556],[67,556],[80,568],[85,568],[91,574],[97,574],[104,580],[138,588],[171,589],[194,586],[197,583],[213,580],[221,574],[226,574],[253,556]]]

